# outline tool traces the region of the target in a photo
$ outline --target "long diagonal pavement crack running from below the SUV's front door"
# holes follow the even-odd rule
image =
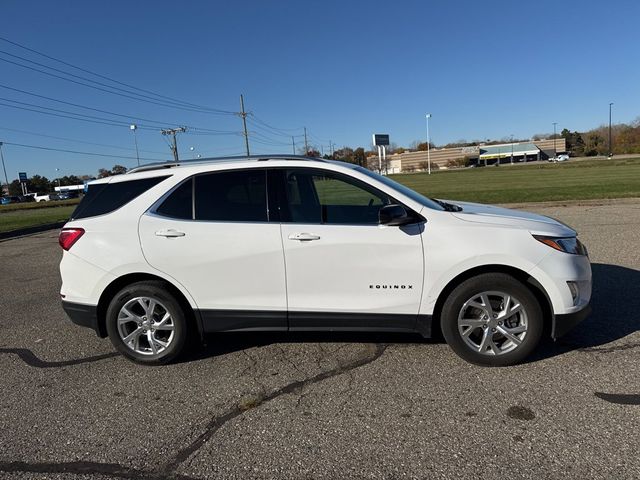
[[[181,449],[173,457],[173,459],[163,467],[163,469],[166,471],[175,471],[191,455],[193,455],[200,448],[202,448],[202,446],[211,437],[213,437],[213,435],[218,430],[220,430],[220,428],[222,428],[227,422],[234,420],[235,418],[239,417],[240,415],[247,412],[248,410],[259,407],[260,405],[264,405],[265,403],[270,402],[271,400],[275,400],[276,398],[281,397],[283,395],[299,392],[303,388],[308,387],[309,385],[322,382],[323,380],[326,380],[328,378],[336,377],[336,376],[342,375],[343,373],[351,372],[352,370],[355,370],[357,368],[373,363],[382,356],[386,348],[387,348],[386,344],[375,344],[371,355],[359,357],[351,362],[338,365],[336,368],[333,368],[331,370],[318,373],[313,377],[291,382],[285,385],[284,387],[281,387],[271,392],[270,394],[263,396],[262,398],[256,399],[255,404],[253,404],[249,409],[247,409],[246,406],[244,405],[236,405],[235,407],[229,409],[226,413],[212,418],[204,428],[204,431],[196,439],[194,439],[189,445]]]

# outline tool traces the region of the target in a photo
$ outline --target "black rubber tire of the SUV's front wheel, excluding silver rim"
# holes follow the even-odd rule
[[[521,338],[521,343],[516,345],[514,341],[509,341],[499,330],[495,334],[490,333],[496,332],[496,330],[500,328],[504,329],[504,327],[507,326],[506,323],[504,326],[503,323],[500,323],[500,326],[495,324],[499,319],[492,319],[491,324],[487,321],[485,325],[472,327],[475,330],[465,329],[465,334],[469,331],[471,331],[472,334],[467,337],[467,340],[463,339],[460,328],[464,327],[459,327],[458,316],[461,314],[467,301],[473,299],[474,296],[480,298],[479,296],[483,292],[504,293],[518,300],[524,314],[514,314],[513,317],[511,317],[511,322],[519,322],[521,328],[524,328],[522,325],[526,323],[524,338],[518,337],[519,339]],[[487,298],[490,300],[489,303],[493,303],[498,301],[500,296],[489,295]],[[507,300],[504,300],[500,305],[504,305],[504,303],[508,303]],[[492,309],[491,311],[494,310]],[[480,313],[482,312],[480,309],[476,309],[473,306],[465,307],[465,312],[464,318],[471,318],[469,312],[478,312],[477,321],[488,318],[484,316],[484,313]],[[540,342],[544,318],[538,300],[526,285],[504,273],[485,273],[465,280],[451,292],[442,307],[440,325],[445,340],[458,356],[476,365],[503,367],[520,363],[531,354]],[[511,325],[513,324],[510,324],[510,326]],[[492,326],[496,327],[496,330],[492,330]],[[485,334],[487,328],[488,331]],[[490,336],[491,339],[496,339],[496,342],[491,340],[489,344],[493,344],[498,351],[500,351],[499,344],[502,342],[504,352],[495,354],[493,347],[491,347],[486,350],[487,353],[480,353],[479,350],[482,349],[483,345],[483,334]],[[473,349],[467,342],[479,343],[478,349]],[[494,353],[489,352],[489,350]]]

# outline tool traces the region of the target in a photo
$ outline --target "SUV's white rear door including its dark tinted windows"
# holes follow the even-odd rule
[[[287,328],[266,178],[264,169],[196,175],[140,219],[145,258],[190,292],[207,331]]]

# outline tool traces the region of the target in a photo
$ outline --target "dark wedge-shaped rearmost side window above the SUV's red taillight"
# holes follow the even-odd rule
[[[113,212],[166,178],[169,178],[169,175],[89,185],[86,195],[74,210],[71,218],[77,220]]]

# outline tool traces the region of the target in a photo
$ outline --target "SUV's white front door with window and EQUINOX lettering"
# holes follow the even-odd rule
[[[353,177],[323,169],[275,171],[290,328],[413,329],[424,224],[378,225],[380,207],[397,202]]]

